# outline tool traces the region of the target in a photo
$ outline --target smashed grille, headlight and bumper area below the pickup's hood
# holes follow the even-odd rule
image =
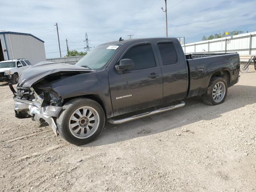
[[[12,85],[9,86],[11,90],[14,90]],[[56,93],[51,89],[40,90],[40,94],[38,94],[34,88],[17,86],[17,91],[14,92],[16,116],[22,118],[31,116],[32,120],[36,120],[41,124],[47,122],[56,135],[58,130],[56,117],[58,117],[62,110],[62,102],[61,97],[56,97]]]

